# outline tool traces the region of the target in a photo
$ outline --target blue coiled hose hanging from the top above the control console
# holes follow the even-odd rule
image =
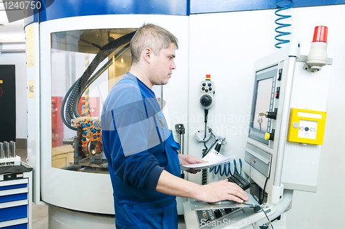
[[[283,5],[282,1],[286,1],[288,3]],[[275,15],[277,15],[279,17],[279,19],[275,20],[275,23],[278,25],[278,27],[275,28],[275,32],[279,33],[279,34],[277,34],[277,36],[275,36],[275,39],[278,41],[278,43],[275,44],[275,48],[282,48],[280,45],[290,42],[290,40],[282,39],[282,36],[286,36],[288,34],[291,34],[291,32],[283,32],[283,31],[279,31],[279,30],[281,28],[291,26],[291,24],[282,23],[279,21],[283,20],[283,19],[288,19],[291,17],[291,15],[283,15],[283,14],[279,14],[279,12],[282,10],[287,10],[287,9],[292,8],[293,7],[293,1],[292,0],[277,0],[277,1],[275,1],[275,6],[277,6],[277,8],[279,8],[278,10],[275,11]]]

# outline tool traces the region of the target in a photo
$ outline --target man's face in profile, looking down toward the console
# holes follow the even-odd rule
[[[150,82],[152,85],[165,85],[171,77],[175,65],[175,43],[170,43],[168,48],[162,48],[159,55],[152,54]]]

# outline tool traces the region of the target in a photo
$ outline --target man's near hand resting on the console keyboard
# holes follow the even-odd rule
[[[246,192],[242,188],[239,188],[236,183],[229,182],[228,179],[201,186],[199,195],[200,197],[197,197],[197,199],[209,203],[223,200],[242,203],[248,200]]]

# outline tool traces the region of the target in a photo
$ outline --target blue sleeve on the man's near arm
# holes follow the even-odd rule
[[[126,94],[126,103],[108,104],[109,108],[104,110],[103,117],[107,120],[102,120],[102,131],[104,128],[108,135],[103,137],[103,144],[106,145],[104,151],[110,156],[111,161],[108,163],[111,163],[115,175],[122,183],[126,186],[155,190],[164,170],[159,166],[159,161],[148,152],[150,146],[159,144],[155,123],[152,118],[146,116],[142,99],[131,99],[128,98],[128,92]],[[103,123],[106,123],[108,130]],[[155,135],[157,137],[152,138]]]

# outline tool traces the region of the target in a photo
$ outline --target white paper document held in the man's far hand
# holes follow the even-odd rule
[[[233,161],[233,159],[235,159],[235,156],[225,157],[224,155],[221,155],[219,152],[217,152],[215,150],[211,150],[203,158],[204,161],[208,161],[208,162],[206,162],[206,163],[195,163],[193,165],[188,165],[188,166],[181,166],[181,171],[189,170],[190,168],[193,168],[195,170],[202,170],[204,168],[210,168],[213,166],[218,166],[222,163],[227,163],[229,161]]]

